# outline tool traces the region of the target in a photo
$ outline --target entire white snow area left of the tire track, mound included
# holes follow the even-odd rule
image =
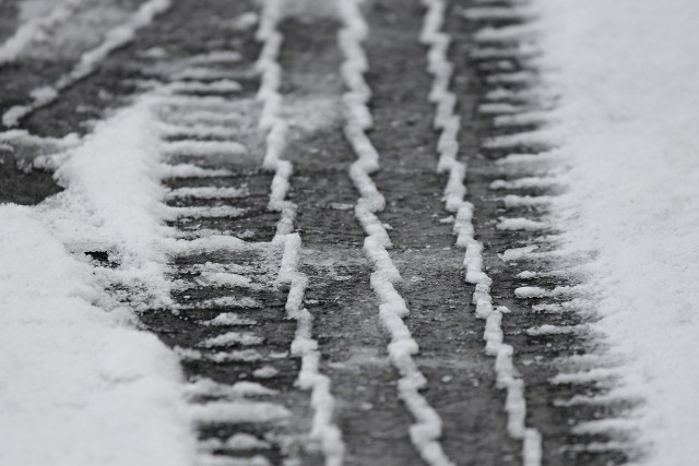
[[[188,465],[177,357],[104,289],[164,289],[165,213],[147,101],[54,160],[67,187],[0,206],[0,464]],[[106,251],[116,268],[90,264]]]

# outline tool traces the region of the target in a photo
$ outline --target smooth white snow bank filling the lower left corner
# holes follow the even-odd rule
[[[191,464],[177,358],[91,303],[91,267],[38,217],[0,206],[0,464]]]

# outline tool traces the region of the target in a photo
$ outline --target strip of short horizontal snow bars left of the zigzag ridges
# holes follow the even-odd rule
[[[232,65],[252,63],[224,61],[199,69],[216,75]],[[251,95],[221,95],[217,86],[202,93],[210,82],[176,81],[161,91],[159,111],[169,119],[163,153],[176,164],[171,167],[180,168],[168,196],[173,226],[186,239],[175,249],[174,304],[144,313],[142,320],[182,359],[191,415],[200,431],[199,464],[279,464],[298,455],[303,421],[289,426],[289,419],[309,416],[305,397],[289,390],[299,368],[288,358],[295,328],[283,319],[286,292],[277,286],[284,248],[253,241],[254,230],[245,235],[247,240],[232,235],[232,226],[246,214],[254,226],[273,229],[276,215],[256,215],[266,211],[272,177],[246,172],[244,167],[250,170],[259,156],[247,154],[241,133],[230,131],[229,139],[215,145],[203,130],[196,138],[188,131],[178,134],[191,121],[178,120],[173,106],[196,108],[202,117],[250,115]],[[189,95],[191,89],[194,95]],[[210,128],[221,138],[227,126]],[[182,138],[173,140],[178,135]],[[250,199],[251,189],[259,192],[257,198]],[[201,228],[204,222],[208,228]]]

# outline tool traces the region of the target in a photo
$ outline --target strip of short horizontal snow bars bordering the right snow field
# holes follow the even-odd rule
[[[526,421],[543,434],[544,463],[625,463],[623,417],[636,402],[607,396],[620,361],[585,326],[594,319],[587,259],[558,251],[547,217],[548,200],[565,189],[565,158],[546,131],[556,96],[538,67],[535,11],[518,2],[465,4],[459,16],[449,26],[459,38],[454,61],[471,83],[457,89],[481,95],[461,111],[475,115],[477,128],[476,139],[461,142],[483,155],[471,159],[467,176],[475,232],[491,292],[510,310],[501,325],[526,381]]]

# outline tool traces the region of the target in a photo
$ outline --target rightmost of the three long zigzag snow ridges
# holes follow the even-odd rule
[[[508,415],[508,433],[511,438],[522,441],[523,464],[538,466],[542,463],[541,433],[525,425],[524,382],[518,377],[514,369],[512,346],[503,343],[501,321],[502,314],[509,310],[505,307],[493,308],[491,279],[483,271],[483,244],[474,238],[474,207],[473,204],[464,201],[466,165],[457,159],[461,121],[459,116],[454,113],[457,96],[449,89],[453,64],[449,61],[447,53],[451,37],[441,32],[447,2],[443,0],[423,0],[423,5],[427,8],[427,11],[419,40],[429,46],[427,71],[434,76],[429,100],[437,106],[435,128],[441,131],[437,144],[439,153],[437,170],[449,174],[443,195],[446,208],[455,213],[453,232],[457,235],[457,246],[466,248],[464,259],[466,282],[475,285],[473,303],[476,304],[476,315],[486,319],[484,334],[486,354],[496,358],[497,386],[507,391],[505,410]]]

